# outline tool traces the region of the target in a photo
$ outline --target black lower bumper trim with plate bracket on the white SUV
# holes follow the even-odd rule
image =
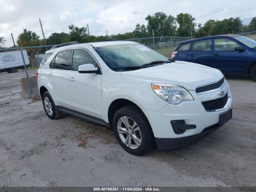
[[[228,114],[226,116],[225,114]],[[222,117],[223,116],[223,117]],[[228,112],[225,112],[220,114],[219,122],[204,128],[202,132],[186,137],[180,137],[180,138],[155,138],[156,140],[156,146],[158,150],[173,150],[177,148],[182,148],[184,146],[187,146],[188,144],[192,144],[193,142],[208,136],[218,128],[220,128],[224,123],[226,123],[228,120],[232,118],[232,109],[230,109]]]

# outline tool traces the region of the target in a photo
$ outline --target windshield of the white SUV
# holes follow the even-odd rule
[[[111,69],[142,66],[159,60],[169,62],[168,58],[141,44],[108,45],[94,49]]]

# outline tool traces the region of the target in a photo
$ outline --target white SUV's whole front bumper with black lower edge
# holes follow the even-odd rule
[[[196,94],[195,91],[190,90],[193,101],[181,102],[178,105],[167,104],[159,111],[143,110],[151,125],[158,149],[167,150],[186,146],[222,126],[220,115],[232,109],[232,96],[228,84],[225,84],[222,90],[224,94],[229,93],[229,98],[224,108],[220,110],[206,111],[202,105],[204,101],[218,98],[220,90],[205,94]],[[177,132],[171,124],[177,120],[183,122],[179,125],[183,131]],[[183,127],[184,124],[186,126]]]

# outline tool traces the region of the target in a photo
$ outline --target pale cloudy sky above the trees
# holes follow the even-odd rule
[[[137,23],[147,24],[148,14],[176,16],[189,13],[196,23],[209,19],[240,17],[249,24],[256,16],[255,0],[0,0],[0,36],[6,47],[15,43],[23,29],[42,37],[39,18],[47,38],[53,32],[68,32],[68,25],[89,25],[90,35],[132,32]]]

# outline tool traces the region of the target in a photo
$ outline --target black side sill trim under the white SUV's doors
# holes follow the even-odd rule
[[[74,116],[77,116],[77,117],[80,117],[80,118],[86,119],[88,121],[92,121],[92,122],[95,122],[95,123],[98,123],[98,124],[101,124],[101,125],[104,125],[104,126],[107,126],[107,127],[110,128],[109,123],[105,122],[104,120],[102,120],[100,118],[96,118],[96,117],[93,117],[93,116],[90,116],[90,115],[87,115],[87,114],[83,114],[83,113],[80,113],[80,112],[62,107],[62,106],[56,106],[56,108],[58,110],[61,110],[61,111],[65,112],[65,113],[68,113],[70,115],[74,115]]]

